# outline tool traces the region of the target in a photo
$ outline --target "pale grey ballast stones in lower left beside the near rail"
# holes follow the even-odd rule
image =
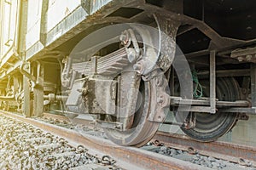
[[[1,170],[69,169],[101,161],[101,158],[88,154],[85,148],[77,152],[77,149],[68,145],[65,139],[56,138],[50,133],[44,133],[38,128],[16,122],[6,116],[0,116],[0,129]],[[60,144],[60,146],[47,147],[49,144]],[[71,151],[76,155],[57,156]],[[118,167],[110,167],[118,169]]]

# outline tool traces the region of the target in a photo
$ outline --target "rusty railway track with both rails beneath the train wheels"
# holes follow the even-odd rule
[[[209,167],[213,169],[229,169],[230,167],[255,169],[256,150],[237,144],[224,142],[199,143],[183,135],[158,132],[154,136],[154,140],[141,149],[121,147],[104,139],[102,129],[91,125],[86,120],[77,119],[75,122],[83,122],[87,124],[87,131],[94,131],[101,135],[80,133],[76,125],[65,116],[45,113],[44,121],[42,118],[26,118],[9,112],[0,113],[0,118],[2,116],[27,123],[58,138],[67,139],[68,144],[74,149],[78,148],[79,145],[84,145],[86,153],[97,160],[97,166],[105,166],[105,169],[210,169]],[[176,156],[172,156],[171,152],[166,154],[166,150],[175,151]],[[155,154],[152,151],[160,154]],[[110,167],[102,165],[102,156],[109,156],[114,162],[113,165],[108,165]],[[196,162],[200,159],[209,159],[209,162],[212,162],[211,166]],[[219,159],[222,163],[216,161]],[[214,167],[214,163],[217,166]],[[93,167],[90,168],[93,169]]]

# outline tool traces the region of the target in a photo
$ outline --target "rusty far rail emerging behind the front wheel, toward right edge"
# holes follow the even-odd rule
[[[189,151],[192,148],[195,153],[201,155],[213,156],[236,163],[246,160],[251,162],[253,166],[256,165],[256,148],[254,147],[221,141],[202,143],[182,134],[164,132],[156,133],[154,139],[179,150]]]

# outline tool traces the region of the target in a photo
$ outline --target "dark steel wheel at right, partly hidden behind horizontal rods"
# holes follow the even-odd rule
[[[209,87],[209,82],[202,81],[201,85]],[[204,90],[205,96],[209,96],[209,89]],[[240,99],[239,86],[232,77],[218,78],[216,80],[216,96],[219,100],[234,101]],[[224,133],[236,124],[236,116],[234,113],[224,113],[217,111],[216,114],[194,113],[196,116],[195,128],[185,129],[183,132],[195,140],[209,142],[218,139]]]

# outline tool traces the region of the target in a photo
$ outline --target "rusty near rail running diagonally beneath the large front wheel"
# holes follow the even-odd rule
[[[76,144],[84,144],[88,149],[95,150],[99,154],[107,154],[117,160],[117,165],[120,167],[135,167],[137,169],[207,169],[187,161],[180,161],[172,157],[163,156],[159,154],[153,154],[147,150],[140,150],[131,147],[121,147],[109,142],[106,139],[99,139],[93,136],[87,136],[86,138],[80,133],[69,130],[64,127],[57,127],[45,122],[39,122],[23,116],[4,112],[6,116],[15,118],[22,122],[32,124],[35,127],[39,127],[50,133],[60,136],[61,138],[68,139]],[[123,166],[122,166],[123,165]]]

